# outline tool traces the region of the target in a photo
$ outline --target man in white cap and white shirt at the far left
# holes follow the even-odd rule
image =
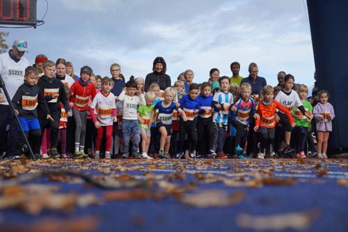
[[[23,84],[24,70],[30,65],[29,61],[23,57],[26,48],[26,40],[15,40],[9,52],[0,54],[0,74],[10,96],[9,100],[13,98],[17,88]],[[5,157],[13,158],[18,137],[17,124],[3,89],[1,88],[0,91],[0,155],[5,151]]]

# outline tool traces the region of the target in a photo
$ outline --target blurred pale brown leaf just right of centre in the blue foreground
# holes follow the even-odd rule
[[[219,190],[207,190],[196,194],[185,194],[180,201],[200,208],[225,207],[235,205],[244,199],[243,192],[229,193]]]

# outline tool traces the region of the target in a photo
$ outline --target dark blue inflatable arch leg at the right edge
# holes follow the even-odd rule
[[[329,154],[348,150],[348,0],[307,0],[318,89],[335,109]]]

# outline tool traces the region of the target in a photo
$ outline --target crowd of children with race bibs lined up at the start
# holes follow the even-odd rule
[[[84,66],[74,82],[61,76],[62,65],[68,67],[63,59],[45,61],[40,75],[26,68],[24,84],[13,98],[36,157],[327,157],[335,118],[329,93],[319,91],[313,107],[307,100],[308,87],[302,84],[295,90],[292,75],[285,75],[281,89],[263,86],[255,99],[251,84],[230,85],[227,76],[202,84],[192,78],[185,84],[178,78],[173,87],[161,91],[157,83],[144,89],[141,77],[126,83],[116,63],[111,65],[111,78],[95,76]],[[72,134],[73,151],[67,139]],[[250,144],[257,146],[247,149]],[[17,155],[23,147],[21,136]]]

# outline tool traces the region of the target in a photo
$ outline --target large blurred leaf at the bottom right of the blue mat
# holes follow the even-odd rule
[[[240,214],[237,215],[235,222],[242,229],[259,231],[307,230],[319,214],[320,211],[317,209],[269,216]]]

